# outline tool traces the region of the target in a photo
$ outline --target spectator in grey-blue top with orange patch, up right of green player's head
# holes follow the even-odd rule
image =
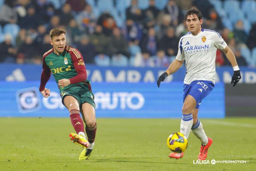
[[[85,9],[78,14],[76,22],[85,29],[87,34],[92,34],[96,25],[97,18],[92,12],[91,5],[86,5]]]

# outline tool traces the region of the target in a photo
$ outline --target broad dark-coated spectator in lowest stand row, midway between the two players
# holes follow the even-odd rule
[[[127,57],[130,57],[130,53],[128,51],[128,43],[121,34],[118,27],[115,27],[113,29],[113,35],[111,36],[108,49],[109,56],[113,56],[114,54],[123,54]]]

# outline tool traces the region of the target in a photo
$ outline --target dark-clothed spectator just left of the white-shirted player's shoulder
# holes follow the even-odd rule
[[[177,44],[179,39],[174,34],[174,28],[168,27],[165,36],[160,41],[160,48],[165,51],[167,56],[177,55],[178,48]]]

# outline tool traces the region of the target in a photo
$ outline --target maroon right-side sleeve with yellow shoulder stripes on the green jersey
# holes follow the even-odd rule
[[[85,63],[83,62],[83,56],[81,55],[80,51],[74,49],[72,52],[71,59],[78,74],[69,80],[70,84],[76,84],[85,81],[87,79],[87,73]]]

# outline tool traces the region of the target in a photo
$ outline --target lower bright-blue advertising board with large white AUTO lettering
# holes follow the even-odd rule
[[[0,81],[0,116],[2,117],[68,117],[54,81],[47,83],[51,95],[44,98],[39,81]],[[97,117],[180,118],[183,104],[183,82],[92,83]],[[225,117],[224,84],[217,83],[200,105],[200,118]]]

